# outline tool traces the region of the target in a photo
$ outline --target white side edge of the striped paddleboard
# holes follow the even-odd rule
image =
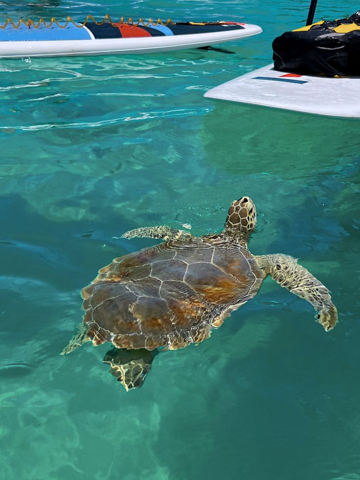
[[[239,30],[227,30],[224,26],[223,31],[190,33],[187,35],[172,34],[171,36],[111,39],[95,39],[89,35],[89,38],[86,40],[45,39],[38,41],[32,39],[31,41],[0,41],[0,58],[159,53],[221,44],[251,37],[252,35],[257,35],[262,32],[261,27],[258,25],[249,23],[241,23],[241,25],[242,28]],[[38,30],[43,34],[42,30],[45,30],[45,33],[47,33],[47,30],[51,29],[42,28]],[[67,30],[70,31],[70,35],[71,30],[73,31],[74,28]],[[75,28],[77,34],[79,34],[78,30],[85,31],[86,28]]]

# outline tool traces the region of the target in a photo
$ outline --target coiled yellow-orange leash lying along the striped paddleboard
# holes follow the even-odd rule
[[[127,25],[144,25],[144,26],[149,26],[149,25],[168,25],[169,23],[173,23],[170,19],[167,19],[167,21],[165,23],[163,23],[161,21],[161,19],[158,19],[158,21],[155,23],[153,22],[153,19],[149,19],[148,22],[144,22],[142,18],[140,18],[137,22],[134,22],[134,20],[130,17],[129,20],[127,22],[124,21],[124,17],[121,17],[120,21],[119,22],[112,22],[112,19],[110,18],[110,16],[108,14],[105,15],[105,17],[103,18],[103,20],[101,22],[96,22],[96,20],[94,19],[94,17],[92,15],[88,15],[86,17],[86,20],[85,22],[83,23],[79,23],[79,22],[75,22],[71,17],[67,17],[66,19],[66,23],[64,25],[61,25],[56,19],[52,18],[50,20],[50,23],[46,23],[45,20],[43,18],[41,18],[39,20],[38,23],[34,22],[31,18],[27,19],[27,20],[23,20],[23,19],[20,19],[19,22],[16,24],[14,23],[13,19],[12,18],[8,18],[6,20],[6,22],[1,25],[0,24],[0,28],[1,29],[4,29],[7,27],[7,25],[12,25],[13,28],[20,28],[20,26],[23,24],[23,25],[26,25],[28,28],[30,27],[34,27],[34,28],[39,28],[41,25],[44,25],[46,28],[51,28],[52,25],[55,23],[59,28],[67,28],[67,25],[69,23],[72,23],[74,26],[78,27],[78,28],[82,28],[89,20],[91,20],[92,22],[96,23],[96,25],[102,25],[103,23],[105,22],[109,22],[112,24],[112,26],[117,26],[119,23],[126,23]]]

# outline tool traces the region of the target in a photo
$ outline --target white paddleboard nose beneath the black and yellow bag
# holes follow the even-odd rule
[[[294,75],[267,65],[205,93],[205,97],[317,115],[360,117],[360,77]]]

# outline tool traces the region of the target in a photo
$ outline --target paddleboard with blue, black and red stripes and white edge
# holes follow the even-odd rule
[[[257,25],[236,22],[139,23],[109,20],[85,24],[8,21],[0,25],[0,57],[52,57],[156,53],[209,46],[262,32]]]

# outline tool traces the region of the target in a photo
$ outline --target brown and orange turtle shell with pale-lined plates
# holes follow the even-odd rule
[[[88,338],[117,348],[202,342],[264,279],[251,253],[230,242],[169,241],[120,258],[82,290]]]

